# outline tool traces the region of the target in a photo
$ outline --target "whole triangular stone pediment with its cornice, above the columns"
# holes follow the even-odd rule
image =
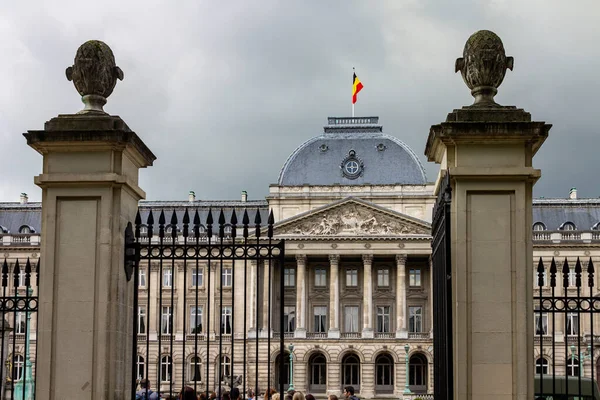
[[[431,235],[423,220],[348,197],[275,224],[277,236],[414,236]]]

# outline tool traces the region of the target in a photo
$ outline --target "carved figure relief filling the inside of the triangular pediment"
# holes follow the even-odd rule
[[[387,236],[387,235],[428,235],[430,232],[410,221],[387,215],[383,212],[348,204],[322,211],[277,229],[278,235],[302,236]]]

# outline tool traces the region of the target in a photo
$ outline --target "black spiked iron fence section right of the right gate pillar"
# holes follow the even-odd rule
[[[600,380],[600,297],[594,263],[540,258],[534,297],[536,395],[594,398]],[[562,397],[561,397],[562,398]]]

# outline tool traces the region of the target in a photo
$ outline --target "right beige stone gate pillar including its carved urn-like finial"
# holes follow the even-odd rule
[[[432,126],[425,149],[441,164],[436,190],[446,174],[452,187],[455,400],[534,397],[532,159],[551,126],[495,103],[512,67],[498,36],[473,34],[456,71],[475,103]]]

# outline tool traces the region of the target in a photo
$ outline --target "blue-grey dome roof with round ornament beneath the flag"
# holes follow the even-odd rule
[[[415,153],[384,134],[379,117],[330,117],[323,134],[288,157],[278,181],[281,186],[425,183],[425,170]]]

